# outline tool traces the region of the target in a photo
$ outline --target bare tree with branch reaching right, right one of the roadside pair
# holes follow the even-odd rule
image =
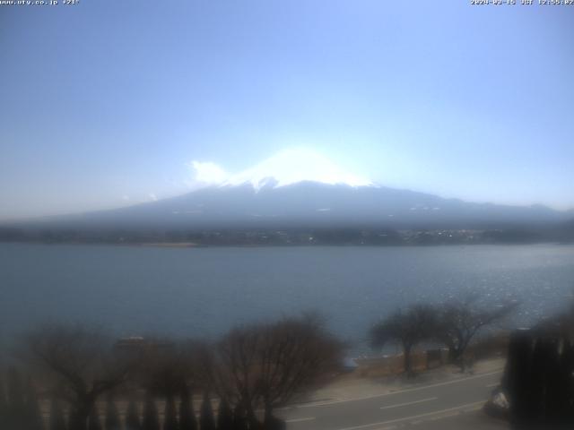
[[[452,300],[439,306],[436,335],[448,347],[448,358],[464,370],[466,348],[483,328],[500,322],[512,313],[516,303],[484,308],[477,305],[478,296]]]

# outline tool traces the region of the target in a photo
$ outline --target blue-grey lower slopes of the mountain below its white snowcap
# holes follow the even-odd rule
[[[571,219],[544,206],[504,206],[443,199],[374,185],[274,181],[210,186],[178,197],[53,219],[82,228],[496,228],[544,225]]]

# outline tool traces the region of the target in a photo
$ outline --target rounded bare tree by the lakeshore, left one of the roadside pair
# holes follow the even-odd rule
[[[436,314],[431,305],[414,305],[405,312],[399,309],[371,328],[371,346],[383,348],[389,342],[400,344],[404,354],[404,372],[411,376],[413,348],[423,340],[431,339],[435,332]]]

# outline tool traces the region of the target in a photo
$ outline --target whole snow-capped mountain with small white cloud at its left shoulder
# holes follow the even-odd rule
[[[388,188],[339,168],[312,150],[283,150],[253,168],[228,174],[192,162],[190,193],[135,206],[55,217],[66,228],[497,228],[544,225],[571,211],[542,205],[463,202]]]

